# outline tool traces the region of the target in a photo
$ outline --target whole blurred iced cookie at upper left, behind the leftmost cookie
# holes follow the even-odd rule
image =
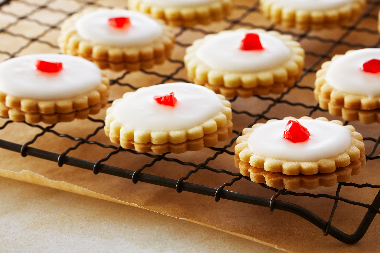
[[[174,35],[163,21],[124,9],[87,9],[62,24],[60,51],[95,62],[101,69],[152,68],[171,55]]]

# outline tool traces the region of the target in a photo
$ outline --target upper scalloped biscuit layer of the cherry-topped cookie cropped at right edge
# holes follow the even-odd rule
[[[348,50],[345,54],[356,50]],[[344,54],[344,55],[345,55]],[[320,108],[328,110],[329,104],[333,107],[343,107],[346,109],[374,110],[380,108],[380,95],[368,96],[359,95],[337,90],[326,81],[326,73],[332,62],[336,61],[343,54],[337,54],[331,61],[324,62],[321,69],[317,71],[315,79],[314,97],[318,101]]]

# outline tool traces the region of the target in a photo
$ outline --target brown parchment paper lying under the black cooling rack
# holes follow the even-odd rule
[[[255,1],[237,1],[237,4],[251,6],[253,4],[252,2]],[[24,33],[28,38],[32,36],[40,36],[41,34],[43,34],[43,36],[40,40],[31,42],[20,36],[0,33],[0,36],[3,36],[3,38],[0,38],[1,51],[11,52],[16,55],[40,52],[58,52],[57,48],[51,47],[46,43],[49,42],[53,46],[56,45],[56,38],[59,35],[59,30],[57,28],[36,24],[36,22],[30,20],[26,20],[22,23],[16,22],[14,16],[32,13],[30,15],[34,19],[38,19],[40,22],[43,22],[43,24],[47,23],[53,25],[60,22],[65,15],[60,15],[59,12],[55,13],[49,9],[39,9],[37,5],[45,3],[43,0],[31,0],[29,1],[29,5],[26,3],[27,2],[24,3],[15,1],[11,2],[10,5],[4,6],[2,10],[6,11],[8,14],[0,12],[0,24],[7,27],[7,30],[13,34]],[[48,1],[46,3],[51,8],[63,9],[65,11],[72,12],[78,11],[83,7],[79,2],[70,0]],[[121,0],[98,1],[97,3],[101,5],[121,7],[126,5],[126,2],[122,2]],[[271,25],[271,23],[266,21],[258,12],[253,12],[247,16],[244,16],[245,11],[246,8],[238,8],[233,12],[230,18],[233,19],[240,17],[242,22],[255,24],[259,27],[269,27]],[[375,14],[377,11],[378,9],[373,9],[372,14]],[[13,13],[14,15],[10,15],[9,13]],[[14,22],[13,25],[12,22]],[[213,23],[209,26],[199,26],[199,28],[202,28],[208,32],[217,32],[228,26],[229,23],[223,21]],[[242,26],[244,27],[244,25],[236,25],[232,28],[235,29]],[[373,18],[364,19],[358,27],[368,27],[375,30],[376,21]],[[43,28],[45,30],[43,30]],[[276,28],[282,29],[280,27]],[[290,31],[297,34],[303,33],[302,31],[300,32],[296,30],[284,31]],[[175,32],[181,32],[180,28],[176,28]],[[346,30],[335,28],[332,30],[322,30],[317,32],[311,31],[307,33],[307,35],[310,37],[320,36],[326,39],[331,38],[336,40],[344,35],[345,32]],[[192,41],[196,38],[201,38],[203,36],[204,34],[197,32],[197,30],[190,30],[178,36],[177,40],[186,44],[192,43]],[[333,44],[329,41],[322,42],[319,40],[312,40],[310,37],[306,37],[301,40],[302,47],[304,47],[306,51],[323,53],[331,48]],[[379,39],[379,36],[369,35],[368,33],[352,32],[349,36],[344,36],[343,39],[350,43],[372,45]],[[337,53],[342,54],[348,49],[350,48],[346,45],[336,46],[332,48],[329,55],[332,56]],[[184,47],[176,46],[172,59],[182,59],[184,50]],[[0,56],[2,57],[1,60],[9,58],[9,55],[6,54],[0,54]],[[317,57],[310,54],[307,55],[306,67],[309,67],[313,62],[315,62],[315,60],[317,60]],[[320,63],[326,60],[327,59],[322,59]],[[320,63],[315,66],[316,69],[319,68]],[[178,63],[167,62],[161,66],[155,66],[152,71],[169,74],[173,73],[173,69],[176,69],[179,66],[180,65]],[[108,75],[110,78],[116,78],[121,76],[122,73],[108,72]],[[186,78],[185,70],[180,70],[174,77]],[[161,77],[156,75],[138,71],[126,75],[122,79],[122,82],[140,87],[153,85],[161,82],[162,80],[163,79]],[[308,74],[304,77],[300,85],[312,85],[314,80],[315,75],[313,73]],[[114,85],[111,87],[110,99],[113,100],[119,98],[124,92],[129,90],[130,89],[128,87],[119,87]],[[285,95],[283,99],[294,103],[302,102],[306,104],[315,104],[313,93],[310,90],[294,89]],[[257,98],[238,98],[233,103],[233,107],[238,111],[247,110],[252,113],[261,113],[270,103],[271,101],[263,101]],[[308,112],[309,109],[279,103],[274,106],[268,114],[266,114],[266,116],[283,118],[291,115],[294,117],[301,117],[306,115]],[[330,120],[339,119],[339,117],[332,117],[325,112],[316,112],[312,116],[314,118],[323,116]],[[98,115],[94,116],[94,118],[97,119],[104,119],[104,117],[105,109],[103,109]],[[1,124],[5,122],[6,119],[0,120]],[[247,117],[244,114],[233,115],[234,129],[236,130],[242,130],[244,126],[251,122],[252,118]],[[260,122],[264,121],[261,120]],[[362,133],[363,136],[372,136],[377,138],[380,135],[380,128],[378,124],[363,125],[358,122],[352,122],[352,125],[354,125],[356,130]],[[99,126],[99,123],[96,122],[94,123],[88,120],[74,120],[69,123],[58,123],[55,125],[53,130],[61,134],[67,133],[74,137],[85,138],[87,134],[92,133],[97,126]],[[33,139],[33,137],[40,132],[41,130],[39,128],[30,127],[24,123],[13,122],[0,131],[0,138],[5,139],[6,141],[24,144]],[[234,135],[231,134],[230,137],[233,138]],[[104,135],[103,130],[99,131],[99,133],[90,138],[90,140],[99,141],[103,144],[111,144],[108,138]],[[218,144],[218,147],[223,147],[223,145],[228,142],[229,140],[222,142]],[[57,136],[52,133],[45,133],[30,146],[51,152],[62,153],[68,147],[72,147],[76,143],[76,141],[71,141],[68,138],[57,138]],[[367,150],[366,154],[368,154],[369,150],[372,149],[373,143],[366,141],[365,144]],[[233,147],[231,147],[230,150],[233,150]],[[106,157],[106,155],[111,151],[113,150],[103,149],[97,145],[83,144],[77,150],[71,151],[68,155],[90,161],[97,161],[100,158]],[[198,164],[203,162],[207,157],[214,155],[214,153],[215,152],[210,149],[203,149],[184,154],[169,154],[167,157],[178,158],[182,161]],[[152,158],[144,155],[132,155],[127,152],[121,152],[112,156],[111,159],[105,163],[120,168],[136,170],[142,165],[150,163],[152,160]],[[222,154],[217,160],[211,161],[208,165],[213,168],[228,169],[230,171],[237,172],[237,169],[233,166],[233,156],[231,155]],[[352,182],[380,184],[380,175],[378,174],[379,165],[379,161],[377,160],[368,161],[361,174],[352,178]],[[157,166],[147,168],[144,172],[157,176],[169,177],[172,179],[180,179],[191,169],[193,168],[180,166],[176,163],[161,161],[157,164]],[[128,179],[122,179],[105,174],[94,175],[92,171],[74,168],[67,165],[63,165],[60,168],[55,162],[41,160],[30,156],[21,157],[19,153],[9,150],[2,149],[0,151],[0,176],[84,194],[95,198],[143,207],[148,210],[153,210],[154,212],[187,219],[198,224],[226,231],[228,233],[254,240],[262,244],[270,245],[271,247],[279,248],[287,252],[378,252],[378,248],[380,247],[380,242],[378,240],[380,233],[380,221],[378,217],[375,217],[366,235],[361,241],[354,245],[346,245],[331,236],[324,237],[320,229],[292,213],[283,212],[280,210],[270,212],[268,208],[223,199],[219,202],[215,202],[213,198],[208,196],[188,192],[182,192],[179,194],[173,189],[142,182],[133,184],[131,180]],[[216,174],[209,171],[199,171],[193,174],[187,181],[218,188],[223,183],[230,182],[230,180],[231,177],[227,177],[221,173]],[[272,191],[266,190],[260,185],[247,180],[240,180],[232,187],[226,188],[226,190],[254,194],[267,198],[270,198],[273,195]],[[335,191],[336,187],[319,187],[315,190],[298,190],[298,192],[310,192],[314,194],[327,193],[332,195],[335,194]],[[376,190],[369,188],[357,189],[353,187],[344,187],[340,196],[353,201],[360,201],[370,204],[376,194]],[[278,199],[289,201],[305,207],[325,220],[328,220],[331,208],[334,204],[334,202],[329,199],[313,199],[308,197],[280,196]],[[362,207],[339,202],[332,225],[346,233],[351,234],[359,225],[365,212],[366,209]]]

